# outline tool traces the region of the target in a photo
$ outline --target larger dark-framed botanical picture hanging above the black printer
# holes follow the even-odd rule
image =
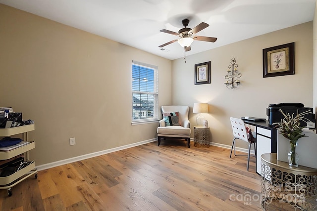
[[[294,74],[294,42],[263,49],[263,78]]]

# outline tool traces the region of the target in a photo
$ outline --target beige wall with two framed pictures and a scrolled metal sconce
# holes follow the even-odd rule
[[[208,102],[210,114],[204,116],[209,121],[212,142],[225,145],[232,143],[231,116],[267,118],[265,108],[268,104],[281,102],[301,102],[312,107],[312,36],[313,22],[308,22],[188,56],[186,63],[182,58],[174,60],[173,104],[191,106],[193,129],[197,116],[192,113],[194,102]],[[262,50],[289,42],[295,42],[295,75],[263,78]],[[224,84],[232,57],[235,57],[242,74],[242,84],[236,89],[228,89]],[[207,61],[211,61],[211,84],[194,85],[194,65]]]

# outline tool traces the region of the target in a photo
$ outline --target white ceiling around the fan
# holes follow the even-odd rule
[[[312,21],[316,0],[0,0],[0,3],[69,25],[141,50],[177,59],[184,49],[159,32],[210,26],[197,33],[216,42],[194,41],[186,55]],[[283,43],[281,43],[283,44]]]

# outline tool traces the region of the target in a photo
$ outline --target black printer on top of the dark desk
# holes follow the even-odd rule
[[[266,108],[266,115],[268,116],[269,125],[273,125],[273,123],[280,123],[281,120],[284,119],[284,116],[279,111],[279,109],[281,109],[284,113],[287,112],[290,115],[294,114],[294,116],[305,111],[311,111],[311,113],[306,114],[304,117],[307,118],[310,122],[316,122],[315,114],[313,114],[313,108],[304,107],[303,103],[278,103],[269,104],[268,108]],[[307,127],[306,122],[301,121],[301,127]]]

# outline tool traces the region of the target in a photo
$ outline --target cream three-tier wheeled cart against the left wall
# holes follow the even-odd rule
[[[25,125],[19,127],[10,127],[10,128],[0,128],[0,137],[7,137],[16,134],[22,134],[22,140],[29,141],[29,131],[35,129],[35,125]],[[0,160],[7,160],[15,156],[24,154],[24,161],[27,162],[27,166],[23,169],[20,169],[9,176],[0,176],[0,189],[7,189],[8,196],[12,196],[11,188],[23,181],[24,179],[35,175],[35,178],[38,177],[38,171],[35,169],[35,162],[29,161],[29,150],[35,148],[34,141],[18,147],[10,151],[0,151]]]

